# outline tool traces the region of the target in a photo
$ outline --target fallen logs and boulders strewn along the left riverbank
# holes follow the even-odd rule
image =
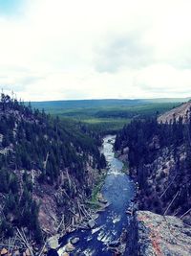
[[[99,170],[90,170],[94,176],[98,176],[99,180],[96,181],[96,185],[100,183],[101,180],[104,180],[105,171],[103,171],[103,175],[100,174]],[[92,176],[92,179],[95,177]],[[71,182],[73,182],[72,177],[70,177]],[[95,179],[96,180],[96,179]],[[44,185],[41,186],[41,189],[44,189]],[[47,186],[48,188],[52,188],[52,186]],[[46,188],[47,189],[47,188]],[[60,188],[61,189],[61,188]],[[76,189],[76,188],[75,188]],[[56,226],[55,232],[51,232],[47,229],[43,229],[43,232],[46,232],[47,239],[41,244],[37,244],[32,240],[30,230],[27,228],[20,228],[15,230],[15,236],[12,239],[3,238],[0,241],[0,255],[15,255],[15,256],[46,256],[50,248],[53,248],[50,255],[57,255],[56,250],[59,248],[60,243],[59,240],[63,237],[63,235],[70,234],[82,226],[88,228],[88,222],[92,220],[96,221],[97,214],[96,210],[88,207],[87,200],[90,198],[86,198],[82,193],[84,187],[79,188],[79,196],[78,198],[74,198],[73,201],[70,201],[70,205],[74,205],[74,207],[70,207],[68,210],[70,211],[70,216],[74,217],[72,220],[66,220],[66,214],[64,215],[60,208],[56,208],[55,199],[60,198],[63,199],[62,195],[55,195],[53,190],[50,190],[47,198],[53,198],[54,204],[51,204],[50,201],[46,201],[46,211],[49,213],[49,219],[46,219],[46,215],[41,215],[41,219],[49,222],[49,230],[53,230],[53,227]],[[62,190],[63,192],[64,190]],[[48,189],[46,190],[48,192]],[[65,192],[65,191],[64,191]],[[57,193],[57,190],[56,190]],[[82,196],[81,196],[82,195]],[[96,195],[97,196],[97,195]],[[65,197],[69,199],[67,193],[65,192]],[[91,197],[92,198],[92,197]],[[52,207],[53,206],[53,209]],[[106,206],[106,205],[103,205]],[[56,209],[55,209],[56,208]],[[56,210],[56,215],[54,214]],[[59,217],[59,219],[58,219]],[[6,228],[6,227],[5,227]]]

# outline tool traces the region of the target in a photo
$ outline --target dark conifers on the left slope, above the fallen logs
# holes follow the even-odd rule
[[[40,242],[39,205],[32,198],[36,184],[59,186],[59,176],[66,169],[82,182],[87,164],[105,168],[98,150],[101,141],[80,123],[62,121],[3,93],[0,120],[0,233],[9,237],[14,226],[27,226]],[[72,197],[74,191],[67,189]]]

